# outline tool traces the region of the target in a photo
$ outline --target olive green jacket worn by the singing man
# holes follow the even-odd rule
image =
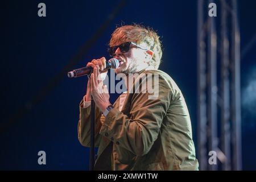
[[[191,120],[180,89],[167,73],[143,73],[159,75],[156,99],[149,100],[149,93],[128,93],[122,111],[118,98],[106,118],[96,108],[95,169],[197,170]],[[78,137],[82,146],[90,147],[90,106],[82,106]]]

